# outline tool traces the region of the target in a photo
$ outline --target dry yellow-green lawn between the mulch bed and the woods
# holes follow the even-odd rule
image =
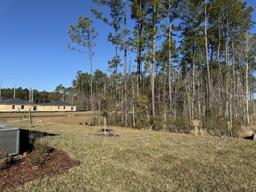
[[[89,118],[89,113],[33,117],[33,130],[55,134],[44,139],[55,140],[56,148],[81,164],[13,191],[256,190],[255,141],[122,127],[111,127],[119,137],[101,137],[92,134],[104,133],[102,127],[78,125]]]

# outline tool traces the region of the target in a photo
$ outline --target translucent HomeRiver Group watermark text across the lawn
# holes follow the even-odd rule
[[[219,147],[225,144],[228,140],[225,130],[214,130],[209,135],[206,131],[198,132],[195,134],[195,130],[177,130],[175,127],[163,127],[161,131],[152,130],[137,130],[137,129],[116,129],[116,126],[111,126],[111,129],[107,129],[104,133],[102,126],[94,126],[92,129],[85,130],[48,130],[44,131],[45,127],[41,126],[40,131],[34,131],[32,128],[29,130],[29,142],[33,143],[33,138],[41,137],[49,143],[57,144],[58,142],[68,142],[69,144],[83,143],[89,144],[92,142],[98,143],[102,139],[105,139],[109,144],[147,144],[150,142],[162,142],[165,144],[174,144],[189,142],[191,144],[204,143],[204,144],[216,144]],[[213,135],[213,136],[212,136]]]

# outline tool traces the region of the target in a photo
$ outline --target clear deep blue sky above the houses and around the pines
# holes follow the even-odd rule
[[[255,0],[247,2],[256,8]],[[0,0],[2,88],[14,87],[16,74],[17,88],[50,92],[60,84],[71,87],[78,70],[90,73],[87,55],[67,47],[69,25],[76,25],[81,15],[94,20],[98,33],[93,71],[107,71],[115,54],[115,47],[107,40],[111,28],[95,19],[91,6],[97,7],[91,0]],[[252,20],[256,21],[255,11]],[[134,21],[128,22],[134,25]]]

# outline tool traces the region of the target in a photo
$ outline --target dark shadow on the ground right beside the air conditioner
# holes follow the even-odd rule
[[[40,131],[32,131],[26,129],[20,129],[20,150],[19,153],[22,155],[24,152],[31,152],[33,149],[33,141],[36,137],[48,138],[50,136],[57,136],[52,133],[45,133]]]

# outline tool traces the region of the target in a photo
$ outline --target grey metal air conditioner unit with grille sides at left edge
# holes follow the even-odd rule
[[[0,148],[6,148],[9,155],[19,155],[20,128],[0,126]]]

